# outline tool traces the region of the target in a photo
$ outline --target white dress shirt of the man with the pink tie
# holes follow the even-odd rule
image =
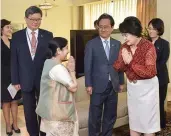
[[[29,28],[27,27],[27,29],[26,29],[27,43],[28,43],[28,46],[29,46],[31,58],[32,58],[32,60],[33,60],[34,57],[35,57],[35,54],[33,55],[33,54],[31,53],[31,39],[32,39],[32,34],[31,34],[31,32],[32,32],[32,30],[29,29]],[[36,37],[36,41],[37,41],[37,42],[36,42],[36,47],[37,47],[37,44],[38,44],[37,38],[38,38],[39,30],[37,29],[37,30],[35,30],[34,32],[35,32],[35,37]]]

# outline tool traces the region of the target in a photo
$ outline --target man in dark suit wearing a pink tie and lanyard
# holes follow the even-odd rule
[[[48,51],[51,32],[39,29],[42,11],[31,6],[25,11],[27,28],[13,34],[11,42],[12,84],[23,95],[24,114],[30,136],[39,136],[35,113],[40,91],[40,78]]]

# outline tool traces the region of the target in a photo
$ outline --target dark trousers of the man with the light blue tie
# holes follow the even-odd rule
[[[93,92],[89,107],[89,136],[112,136],[117,117],[117,102],[118,94],[113,90],[110,81],[103,93]]]

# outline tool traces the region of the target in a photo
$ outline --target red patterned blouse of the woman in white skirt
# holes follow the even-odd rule
[[[122,49],[126,48],[131,52],[130,46],[126,43],[120,49],[119,57],[113,64],[117,71],[124,71],[127,78],[131,81],[150,79],[157,74],[156,70],[156,50],[154,45],[146,40],[141,39],[137,44],[137,49],[133,55],[133,59],[129,64],[125,64],[122,58]]]

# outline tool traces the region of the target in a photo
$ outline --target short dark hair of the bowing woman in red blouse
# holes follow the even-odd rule
[[[130,33],[137,37],[141,37],[142,26],[138,18],[130,16],[124,19],[124,21],[119,25],[119,30],[121,33]]]

